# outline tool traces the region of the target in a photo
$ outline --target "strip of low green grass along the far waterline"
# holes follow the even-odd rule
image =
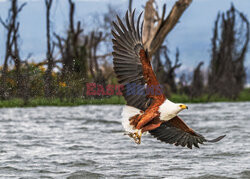
[[[250,101],[250,88],[244,89],[236,100],[212,96],[208,101],[208,96],[203,95],[199,98],[190,99],[187,95],[172,94],[170,100],[178,103],[206,103],[206,102],[243,102]],[[59,98],[31,98],[28,102],[22,99],[10,99],[0,101],[0,108],[3,107],[36,107],[36,106],[79,106],[79,105],[106,105],[106,104],[125,104],[125,100],[121,96],[112,96],[110,98],[101,99],[83,99],[76,98],[72,100]]]

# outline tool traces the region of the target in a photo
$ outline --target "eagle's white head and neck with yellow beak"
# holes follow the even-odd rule
[[[168,121],[177,116],[177,114],[184,109],[188,109],[185,104],[173,103],[167,99],[159,108],[160,119],[163,121]]]

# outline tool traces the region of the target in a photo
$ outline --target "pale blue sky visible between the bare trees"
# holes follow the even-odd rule
[[[95,24],[96,14],[107,12],[108,4],[111,4],[120,12],[125,12],[128,0],[73,0],[76,3],[76,20],[84,24],[85,33]],[[19,0],[19,3],[27,2],[20,13],[20,49],[21,56],[25,58],[32,53],[34,61],[45,59],[46,52],[46,24],[44,0]],[[158,7],[167,4],[167,12],[171,10],[175,0],[156,0]],[[200,62],[209,65],[211,38],[214,21],[218,12],[225,12],[231,6],[243,12],[250,19],[250,0],[193,0],[193,3],[182,15],[180,22],[166,38],[166,44],[170,49],[170,56],[174,59],[175,50],[180,50],[182,67],[180,70],[192,71]],[[146,0],[134,0],[133,8],[138,12],[143,11]],[[8,14],[9,0],[0,0],[0,16],[5,19]],[[52,6],[52,29],[60,35],[65,34],[68,27],[68,0],[54,0]],[[0,64],[3,63],[4,42],[6,31],[0,26]],[[249,48],[250,49],[250,48]],[[248,80],[250,81],[250,50],[246,57],[248,68]]]

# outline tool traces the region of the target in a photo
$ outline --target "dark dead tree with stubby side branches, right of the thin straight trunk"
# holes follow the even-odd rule
[[[79,86],[83,87],[87,79],[87,41],[83,39],[83,28],[81,22],[75,25],[75,3],[69,2],[69,26],[67,36],[65,38],[54,33],[57,39],[57,47],[60,50],[62,59],[62,76],[61,81],[67,84],[67,91],[70,93],[67,97],[74,99],[81,96],[83,92],[79,90]],[[73,82],[73,80],[75,82]],[[60,98],[64,94],[60,93]]]

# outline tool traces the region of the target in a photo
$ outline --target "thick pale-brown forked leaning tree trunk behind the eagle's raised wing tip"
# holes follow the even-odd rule
[[[153,4],[155,0],[148,0],[145,6],[143,44],[152,56],[162,45],[167,34],[174,28],[183,12],[192,0],[177,0],[171,12],[165,18],[166,4],[163,6],[162,15],[159,16]]]

